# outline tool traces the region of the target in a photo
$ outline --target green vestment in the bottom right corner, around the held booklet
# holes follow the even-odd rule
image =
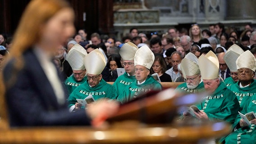
[[[256,95],[250,97],[245,104],[245,107],[241,111],[242,114],[248,112],[256,113]],[[234,130],[225,138],[225,144],[256,144],[256,126],[251,124],[250,126],[240,127],[239,121],[241,117],[238,115],[237,120],[233,124]]]

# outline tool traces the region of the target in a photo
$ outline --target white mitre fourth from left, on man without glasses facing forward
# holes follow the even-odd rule
[[[134,56],[134,65],[141,65],[148,69],[151,68],[155,60],[155,55],[147,45],[143,45],[137,50]]]

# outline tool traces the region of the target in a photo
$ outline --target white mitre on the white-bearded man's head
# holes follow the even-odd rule
[[[181,61],[181,70],[185,76],[194,76],[200,73],[200,69],[198,66],[198,58],[195,54],[188,53],[185,58]]]

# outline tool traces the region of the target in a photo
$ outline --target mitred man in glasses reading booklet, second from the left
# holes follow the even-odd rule
[[[102,98],[116,99],[117,97],[114,87],[102,79],[101,72],[106,63],[104,55],[99,49],[93,50],[84,57],[84,65],[87,70],[87,81],[79,85],[69,95],[69,111],[71,112],[84,108],[76,99],[85,99],[89,95],[91,95],[94,100]]]

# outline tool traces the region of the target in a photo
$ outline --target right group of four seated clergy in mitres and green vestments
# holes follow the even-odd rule
[[[179,85],[177,90],[184,93],[195,93],[203,91],[205,88],[210,93],[201,103],[197,104],[200,112],[195,112],[195,115],[198,119],[223,120],[232,123],[235,131],[227,138],[221,139],[223,143],[248,144],[248,140],[255,142],[256,119],[251,121],[251,126],[248,126],[238,115],[238,111],[245,114],[256,110],[255,81],[253,79],[256,59],[250,51],[243,52],[237,45],[229,48],[224,59],[230,67],[231,73],[238,73],[238,82],[229,86],[230,90],[224,82],[219,81],[218,59],[211,52],[205,56],[202,55],[198,61],[193,54],[186,55],[181,62],[186,83]],[[191,117],[188,113],[183,113],[183,115],[184,118]]]

